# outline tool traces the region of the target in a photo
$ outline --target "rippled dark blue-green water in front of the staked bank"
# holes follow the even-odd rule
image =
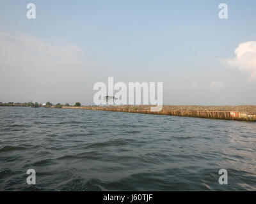
[[[255,191],[255,158],[256,123],[0,107],[1,191]]]

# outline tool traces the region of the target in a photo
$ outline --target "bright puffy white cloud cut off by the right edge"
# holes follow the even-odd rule
[[[235,54],[234,59],[224,60],[225,65],[250,73],[249,80],[256,82],[256,41],[241,43]]]

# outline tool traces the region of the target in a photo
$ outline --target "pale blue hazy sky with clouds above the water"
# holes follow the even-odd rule
[[[1,1],[0,101],[93,105],[114,77],[163,82],[165,105],[256,105],[255,25],[255,0]]]

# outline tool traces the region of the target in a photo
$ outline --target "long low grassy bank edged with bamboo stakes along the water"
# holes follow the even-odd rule
[[[4,105],[1,106],[15,106],[21,105]],[[29,107],[29,106],[21,106]],[[32,106],[33,107],[33,106]],[[127,113],[144,113],[152,115],[174,115],[181,117],[198,117],[207,119],[223,119],[223,120],[240,120],[248,122],[256,122],[256,106],[255,105],[240,105],[240,106],[171,106],[163,105],[160,112],[152,112],[150,108],[152,105],[119,105],[119,106],[65,106],[65,105],[51,105],[40,106],[39,108],[72,108],[85,110],[101,110],[111,112],[127,112]]]

